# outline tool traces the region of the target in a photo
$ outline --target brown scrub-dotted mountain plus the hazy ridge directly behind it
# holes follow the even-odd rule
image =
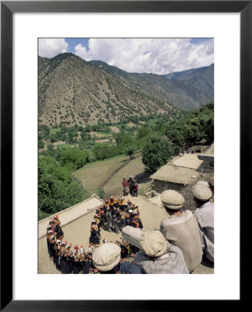
[[[128,73],[100,60],[87,62],[73,53],[39,56],[38,64],[39,121],[46,125],[116,122],[145,114],[172,116],[213,101],[209,92],[185,77]]]

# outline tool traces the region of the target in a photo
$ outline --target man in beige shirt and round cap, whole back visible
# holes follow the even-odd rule
[[[203,254],[197,220],[190,210],[181,211],[185,200],[177,191],[164,191],[161,200],[168,218],[161,222],[160,230],[169,243],[181,249],[192,272],[201,263]]]

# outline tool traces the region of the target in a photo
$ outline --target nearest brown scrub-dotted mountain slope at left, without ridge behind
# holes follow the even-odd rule
[[[87,125],[116,122],[143,114],[172,114],[178,109],[132,88],[72,53],[39,57],[39,121]]]

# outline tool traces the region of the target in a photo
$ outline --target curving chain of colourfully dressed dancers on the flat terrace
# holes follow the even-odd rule
[[[105,203],[96,209],[96,214],[91,220],[89,248],[85,252],[82,245],[78,247],[78,245],[64,241],[60,219],[55,216],[49,221],[46,231],[49,257],[62,274],[97,273],[98,270],[93,266],[92,256],[94,250],[100,246],[100,229],[120,234],[123,227],[127,225],[143,229],[138,206],[134,205],[131,200],[126,201],[124,197],[107,198]],[[103,239],[102,243],[116,243],[120,247],[121,261],[134,257],[134,254],[139,251],[136,246],[127,243],[122,237],[116,242]]]

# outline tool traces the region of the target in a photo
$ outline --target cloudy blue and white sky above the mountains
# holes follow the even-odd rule
[[[39,38],[38,49],[44,58],[71,52],[129,73],[164,75],[214,62],[213,38]]]

